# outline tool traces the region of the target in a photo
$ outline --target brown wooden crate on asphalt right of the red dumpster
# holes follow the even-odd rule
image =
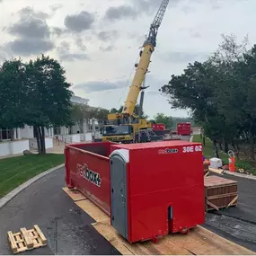
[[[237,205],[237,181],[218,176],[205,177],[206,211]]]

